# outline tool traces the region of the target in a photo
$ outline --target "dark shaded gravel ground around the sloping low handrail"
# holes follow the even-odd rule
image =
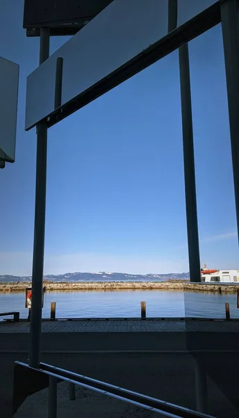
[[[26,357],[27,355],[1,354],[1,418],[11,417],[13,362],[24,362]],[[231,394],[235,399],[238,398],[237,357],[227,355],[222,358],[217,355],[210,359],[212,367],[220,369],[222,380],[229,382]],[[192,356],[187,354],[49,354],[42,355],[42,361],[164,401],[196,408],[194,361]],[[231,373],[234,373],[234,380]],[[122,405],[122,402],[83,389],[77,389],[76,401],[69,401],[65,384],[59,383],[58,387],[59,418],[74,418],[76,414],[85,418],[153,418],[153,415],[149,415],[145,410],[139,412],[128,404]],[[238,418],[236,408],[211,378],[208,378],[208,413],[218,418]],[[15,417],[47,417],[47,390],[44,389],[26,399]]]

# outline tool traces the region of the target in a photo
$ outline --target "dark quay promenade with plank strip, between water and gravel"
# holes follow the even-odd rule
[[[0,351],[27,351],[30,323],[0,323]],[[42,351],[239,352],[239,320],[61,319],[42,321]]]

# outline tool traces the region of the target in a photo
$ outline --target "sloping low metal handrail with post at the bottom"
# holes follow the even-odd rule
[[[120,401],[137,405],[138,407],[150,410],[151,412],[156,412],[162,418],[215,418],[211,415],[205,415],[201,412],[196,412],[179,405],[174,405],[173,403],[152,398],[151,396],[139,394],[129,389],[110,385],[109,383],[101,382],[100,380],[89,378],[72,371],[60,369],[59,367],[51,366],[50,364],[40,363],[40,369],[35,369],[22,362],[15,362],[15,364],[19,364],[31,370],[40,371],[51,378],[51,385],[49,379],[49,404],[54,406],[53,408],[49,408],[49,410],[56,408],[56,399],[54,399],[54,396],[56,397],[56,390],[53,390],[52,386],[56,385],[57,379],[60,379],[65,380],[70,384],[116,398]],[[56,417],[56,415],[52,415],[52,417]],[[49,418],[51,418],[51,416],[49,416]]]

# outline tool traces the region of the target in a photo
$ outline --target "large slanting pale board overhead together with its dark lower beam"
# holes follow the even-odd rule
[[[167,34],[168,0],[113,1],[28,76],[26,130],[44,118],[53,125],[219,22],[215,0],[179,0],[178,29]],[[62,102],[55,109],[59,57]]]

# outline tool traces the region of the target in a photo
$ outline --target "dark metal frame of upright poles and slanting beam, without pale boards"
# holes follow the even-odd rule
[[[173,1],[173,0],[171,0]],[[175,3],[175,2],[174,2]],[[222,15],[222,17],[221,17]],[[170,26],[174,24],[175,14],[170,16]],[[71,102],[68,102],[63,107],[59,107],[56,111],[44,120],[38,123],[38,150],[37,150],[37,176],[36,176],[36,192],[35,192],[35,230],[34,230],[34,249],[33,249],[33,305],[31,318],[31,352],[30,365],[36,368],[40,364],[40,334],[42,323],[42,276],[44,264],[44,227],[45,227],[45,201],[46,201],[46,176],[47,176],[47,128],[51,127],[58,121],[74,113],[74,111],[81,109],[92,100],[103,95],[111,88],[124,82],[141,70],[147,68],[152,63],[163,58],[170,52],[183,47],[187,42],[196,38],[201,33],[211,29],[222,20],[222,32],[224,40],[224,56],[226,64],[226,82],[229,100],[229,121],[231,129],[231,148],[233,156],[233,174],[236,194],[236,213],[239,230],[239,123],[238,123],[238,108],[239,108],[239,40],[238,40],[238,0],[220,0],[207,8],[196,17],[186,22],[179,28],[172,30],[164,38],[160,39],[154,45],[147,48],[142,53],[135,56],[131,61],[122,65],[118,70],[112,72],[108,77],[101,80],[101,82],[94,84],[92,88],[77,96]],[[171,29],[171,28],[169,28]],[[40,63],[42,63],[47,56],[49,56],[49,36],[50,31],[47,28],[40,29]],[[181,56],[181,97],[183,109],[187,115],[184,119],[186,130],[192,130],[191,109],[190,109],[190,79],[189,79],[189,63],[187,47],[181,49],[183,56]],[[60,65],[58,70],[58,84],[56,91],[58,92],[58,100],[60,102]],[[183,86],[183,84],[186,84]],[[57,104],[57,103],[56,103]],[[190,264],[190,270],[195,271],[195,281],[198,281],[199,270],[199,248],[197,240],[197,206],[195,195],[195,178],[192,178],[191,183],[188,181],[191,174],[194,173],[194,164],[192,158],[193,142],[192,134],[186,138],[183,135],[184,141],[184,164],[186,173],[186,195],[188,196],[189,205],[187,207],[188,218],[188,239],[189,252],[192,251],[193,263]],[[187,169],[186,165],[191,160],[191,167]],[[190,202],[190,194],[193,194]],[[190,218],[190,219],[189,219]],[[193,249],[193,246],[194,249]]]

